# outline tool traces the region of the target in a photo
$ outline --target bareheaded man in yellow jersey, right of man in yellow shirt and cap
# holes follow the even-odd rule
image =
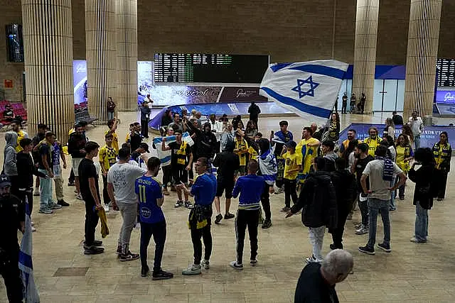
[[[304,127],[302,138],[303,139],[296,146],[296,153],[300,153],[302,155],[302,170],[297,175],[299,183],[305,182],[305,179],[311,170],[311,163],[314,158],[318,156],[319,145],[321,145],[318,139],[313,138],[313,130],[311,127]]]

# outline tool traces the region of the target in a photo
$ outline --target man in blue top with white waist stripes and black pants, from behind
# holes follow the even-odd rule
[[[236,270],[243,269],[243,242],[248,226],[250,235],[251,257],[250,265],[257,263],[257,225],[259,224],[259,201],[264,190],[264,177],[258,176],[259,163],[256,160],[248,162],[248,175],[239,177],[235,182],[232,197],[237,198],[240,193],[239,209],[235,219],[235,236],[237,238],[237,260],[230,266]]]

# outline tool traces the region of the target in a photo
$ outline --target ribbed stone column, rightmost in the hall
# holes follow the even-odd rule
[[[407,36],[405,108],[407,121],[412,111],[432,116],[442,0],[411,0]]]

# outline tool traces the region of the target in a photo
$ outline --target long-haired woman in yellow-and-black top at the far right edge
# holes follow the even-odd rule
[[[439,135],[439,142],[433,145],[433,156],[436,162],[437,197],[438,201],[444,200],[446,195],[447,176],[450,171],[452,148],[446,131]]]

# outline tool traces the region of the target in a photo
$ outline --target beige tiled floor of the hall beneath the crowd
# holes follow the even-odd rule
[[[128,121],[136,114],[122,114],[119,137],[124,138]],[[279,118],[261,119],[260,131],[277,130]],[[291,131],[300,133],[299,118],[287,118]],[[384,120],[382,116],[343,116],[343,126],[350,121]],[[305,123],[306,125],[307,123]],[[90,128],[87,136],[102,142],[104,128]],[[4,142],[0,143],[3,150]],[[69,170],[65,171],[68,175]],[[342,302],[455,302],[455,235],[453,229],[455,209],[454,184],[450,176],[445,202],[436,203],[430,211],[427,244],[410,243],[414,226],[412,206],[413,184],[407,186],[405,201],[397,202],[392,212],[392,253],[378,251],[376,255],[358,253],[367,235],[355,236],[353,223],[359,220],[359,211],[353,221],[346,224],[345,246],[355,258],[354,274],[337,285]],[[283,195],[272,196],[273,226],[259,231],[259,265],[235,271],[228,263],[235,259],[234,221],[222,221],[213,226],[212,267],[203,275],[184,277],[181,270],[192,260],[193,248],[186,227],[188,211],[174,209],[175,194],[166,197],[168,237],[163,266],[174,272],[172,280],[152,281],[140,277],[139,260],[120,263],[114,251],[121,217],[109,213],[110,235],[104,239],[106,251],[102,255],[82,254],[84,206],[75,199],[73,187],[65,186],[71,206],[52,215],[33,214],[38,231],[33,233],[33,263],[36,285],[41,302],[291,302],[296,280],[304,267],[304,258],[311,253],[307,230],[299,216],[284,219],[279,209],[284,206]],[[236,209],[236,200],[232,210]],[[38,199],[35,199],[38,205]],[[223,202],[222,205],[224,206]],[[38,207],[35,208],[38,210]],[[380,221],[380,220],[379,220]],[[382,224],[378,224],[378,239],[382,237]],[[100,237],[99,231],[97,236]],[[323,252],[328,253],[331,243],[326,235]],[[132,250],[139,250],[139,231],[132,234]],[[245,251],[249,243],[245,243]],[[153,261],[154,246],[149,248],[149,264]],[[248,253],[245,253],[246,255]],[[55,275],[59,268],[63,275]],[[80,269],[82,268],[82,269]],[[88,268],[84,275],[85,268]],[[72,272],[74,275],[72,275]],[[82,275],[82,276],[81,276]],[[0,302],[6,302],[6,292],[0,282]]]

